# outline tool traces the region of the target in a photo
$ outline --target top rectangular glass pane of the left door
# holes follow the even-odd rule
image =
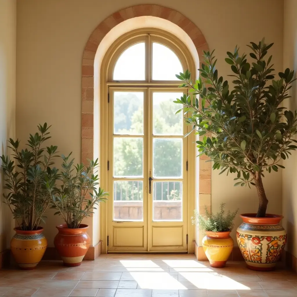
[[[143,135],[143,92],[113,93],[114,134]]]

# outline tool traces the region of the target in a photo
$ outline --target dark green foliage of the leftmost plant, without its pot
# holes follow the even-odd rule
[[[7,189],[3,194],[4,203],[9,206],[21,230],[37,230],[40,222],[44,222],[50,193],[57,191],[58,169],[51,168],[57,146],[44,147],[45,140],[50,138],[49,128],[45,123],[38,126],[39,132],[30,134],[29,149],[19,150],[20,141],[10,138],[8,147],[12,149],[15,161],[1,156],[4,189]]]

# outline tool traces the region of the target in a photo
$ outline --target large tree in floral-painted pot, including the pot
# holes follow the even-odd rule
[[[228,81],[218,75],[214,52],[204,52],[199,80],[192,81],[189,71],[177,75],[192,94],[175,101],[189,112],[186,121],[200,137],[198,151],[211,159],[213,169],[220,169],[220,174],[235,173],[235,186],[257,189],[258,211],[242,214],[243,224],[237,229],[244,259],[256,270],[271,270],[286,242],[286,232],[279,225],[282,216],[266,214],[268,199],[262,178],[271,170],[284,168],[282,159],[297,148],[292,145],[296,142],[297,113],[282,106],[290,97],[294,72],[287,68],[274,80],[272,56],[264,59],[272,45],[266,45],[264,39],[258,44],[251,42],[251,63],[247,55],[239,56],[237,47],[233,53],[227,52],[232,91]]]

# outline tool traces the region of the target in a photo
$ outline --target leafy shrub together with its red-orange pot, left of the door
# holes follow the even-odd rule
[[[62,185],[59,192],[52,195],[52,208],[65,221],[65,224],[56,226],[59,233],[54,238],[54,245],[65,266],[79,266],[91,244],[87,234],[89,226],[81,222],[93,213],[108,193],[97,188],[98,159],[90,161],[88,167],[83,163],[74,166],[74,159],[69,160],[70,155],[62,155]]]

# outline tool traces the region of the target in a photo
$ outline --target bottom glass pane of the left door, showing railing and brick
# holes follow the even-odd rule
[[[114,181],[113,219],[143,221],[143,182]]]

